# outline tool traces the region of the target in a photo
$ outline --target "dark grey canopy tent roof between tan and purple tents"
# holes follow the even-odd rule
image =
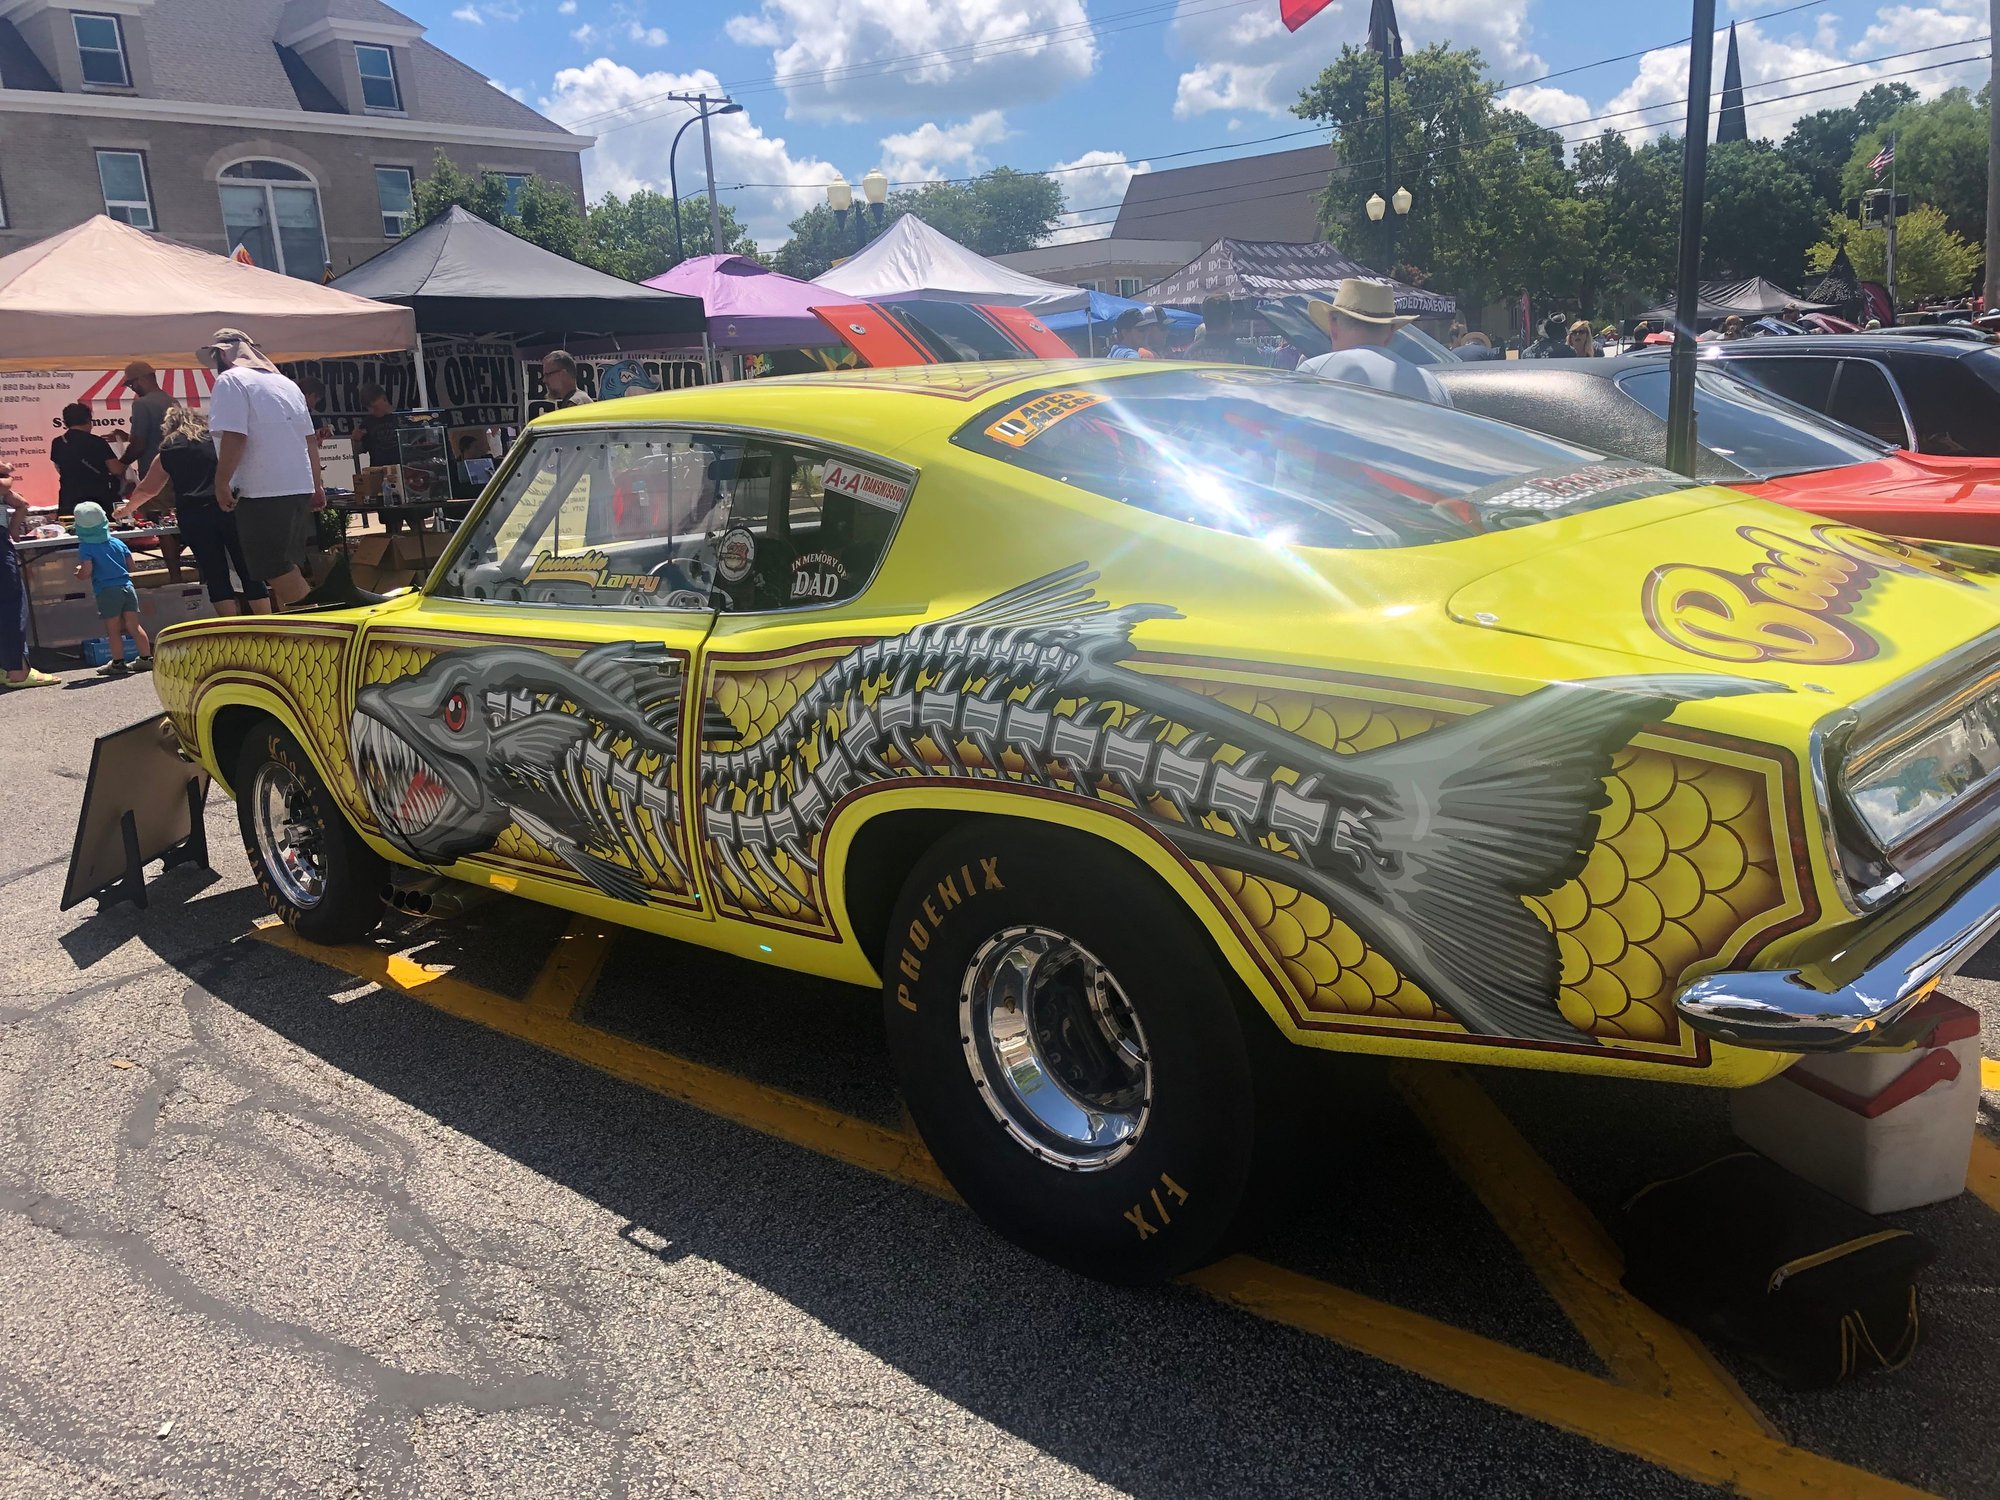
[[[506,332],[516,344],[562,344],[570,334],[670,336],[700,346],[708,330],[698,296],[606,276],[456,206],[334,286],[400,302],[416,314],[420,334]]]

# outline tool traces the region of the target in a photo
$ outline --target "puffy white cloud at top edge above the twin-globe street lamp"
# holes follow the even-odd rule
[[[1084,0],[762,0],[724,30],[772,48],[786,114],[806,120],[1024,106],[1098,64]]]

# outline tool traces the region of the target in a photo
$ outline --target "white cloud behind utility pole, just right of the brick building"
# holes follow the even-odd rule
[[[584,154],[584,182],[590,196],[604,192],[630,194],[638,188],[668,192],[666,152],[674,132],[688,120],[688,110],[662,100],[662,94],[720,94],[722,82],[698,68],[694,72],[636,72],[622,62],[596,58],[582,68],[564,68],[552,90],[540,102],[552,120],[578,122],[598,144]],[[604,110],[630,108],[612,118]],[[716,184],[722,202],[756,236],[758,244],[778,246],[786,226],[818,202],[838,172],[818,156],[794,156],[782,136],[766,136],[750,114],[722,114],[708,122],[714,132]],[[690,130],[680,150],[680,190],[702,186],[702,146]],[[732,182],[804,184],[784,188],[730,190]]]

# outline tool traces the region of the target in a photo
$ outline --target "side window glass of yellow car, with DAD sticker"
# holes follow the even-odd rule
[[[532,434],[436,592],[650,610],[838,604],[874,576],[912,478],[742,434]]]

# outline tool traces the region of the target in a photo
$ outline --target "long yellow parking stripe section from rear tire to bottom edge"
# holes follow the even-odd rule
[[[1848,1468],[1736,1422],[1716,1422],[1680,1400],[1658,1400],[1462,1328],[1242,1256],[1182,1278],[1222,1302],[1320,1334],[1440,1386],[1506,1406],[1732,1494],[1770,1500],[1922,1496],[1896,1480]]]

